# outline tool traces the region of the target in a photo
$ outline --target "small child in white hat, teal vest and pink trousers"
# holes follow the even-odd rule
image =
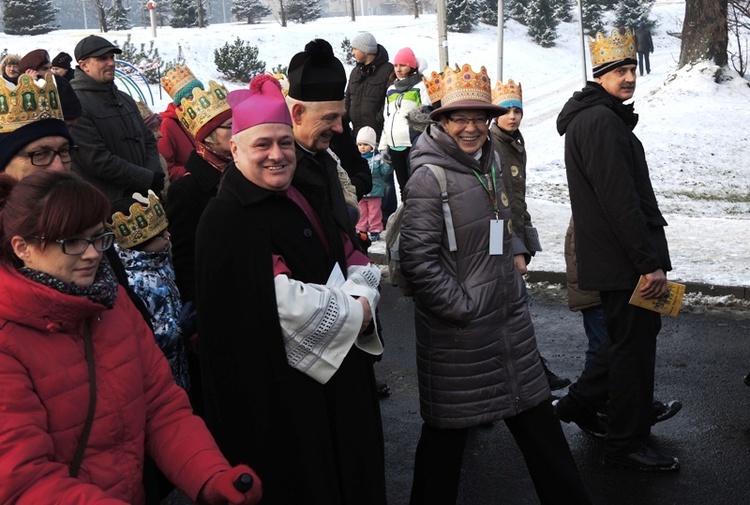
[[[383,177],[393,172],[390,165],[383,162],[380,154],[375,150],[376,138],[375,130],[369,126],[363,126],[357,133],[357,148],[362,157],[367,160],[372,173],[372,191],[359,201],[357,233],[369,234],[373,242],[380,238],[380,233],[383,231],[383,211],[380,208],[383,196],[385,196]]]

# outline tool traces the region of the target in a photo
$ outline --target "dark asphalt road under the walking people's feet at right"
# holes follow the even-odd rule
[[[575,379],[583,367],[580,315],[564,293],[532,292],[532,318],[552,369]],[[384,287],[380,305],[386,353],[376,365],[393,394],[382,400],[390,505],[408,503],[414,448],[421,426],[414,370],[411,300]],[[659,336],[656,395],[679,399],[682,411],[654,427],[652,444],[682,461],[678,474],[642,474],[602,468],[602,447],[563,424],[594,503],[611,505],[750,503],[750,314],[682,313],[664,318]],[[538,503],[520,452],[496,423],[470,437],[460,505]],[[566,503],[561,497],[561,504]]]

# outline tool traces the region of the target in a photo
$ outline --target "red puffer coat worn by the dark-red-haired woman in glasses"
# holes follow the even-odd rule
[[[111,310],[0,265],[0,503],[142,504],[144,452],[195,500],[229,465],[122,287]],[[97,402],[77,478],[69,465]]]

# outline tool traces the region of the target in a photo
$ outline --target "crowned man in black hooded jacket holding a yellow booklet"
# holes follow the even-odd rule
[[[676,471],[677,458],[647,446],[652,423],[656,336],[661,316],[628,302],[639,277],[644,298],[657,298],[671,270],[664,227],[646,164],[632,130],[635,43],[628,30],[590,43],[595,82],[573,95],[557,119],[575,226],[578,280],[599,291],[609,341],[556,405],[562,421],[601,432],[607,405],[607,466]]]

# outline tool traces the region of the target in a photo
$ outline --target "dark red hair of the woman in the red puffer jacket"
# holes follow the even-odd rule
[[[0,174],[0,261],[15,258],[10,241],[75,237],[109,216],[104,194],[70,172],[38,172],[20,181]]]

